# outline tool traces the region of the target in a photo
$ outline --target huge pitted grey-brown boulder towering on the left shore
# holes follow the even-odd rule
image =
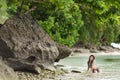
[[[0,56],[16,70],[53,69],[58,55],[56,43],[29,14],[13,16],[0,27]]]

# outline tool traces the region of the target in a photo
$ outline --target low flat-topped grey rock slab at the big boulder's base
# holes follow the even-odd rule
[[[32,63],[31,60],[9,58],[7,61],[7,65],[12,67],[15,71],[23,71],[23,72],[39,74],[41,72],[41,68],[43,69],[44,67],[42,65],[39,67],[37,64]]]

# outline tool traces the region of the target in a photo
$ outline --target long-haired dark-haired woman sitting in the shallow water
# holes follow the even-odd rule
[[[100,72],[99,68],[97,68],[97,66],[95,65],[95,56],[94,55],[90,55],[89,60],[88,60],[88,71],[91,71],[93,73]]]

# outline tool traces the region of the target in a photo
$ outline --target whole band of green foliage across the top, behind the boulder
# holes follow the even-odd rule
[[[9,16],[31,14],[57,42],[72,46],[120,42],[120,0],[0,0],[0,23]]]

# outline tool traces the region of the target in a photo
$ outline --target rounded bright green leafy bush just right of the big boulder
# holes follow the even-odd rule
[[[78,5],[72,0],[50,0],[48,3],[47,6],[42,3],[41,7],[47,9],[44,13],[49,16],[43,20],[37,17],[40,19],[39,23],[55,41],[72,46],[77,41],[78,31],[83,25]]]

